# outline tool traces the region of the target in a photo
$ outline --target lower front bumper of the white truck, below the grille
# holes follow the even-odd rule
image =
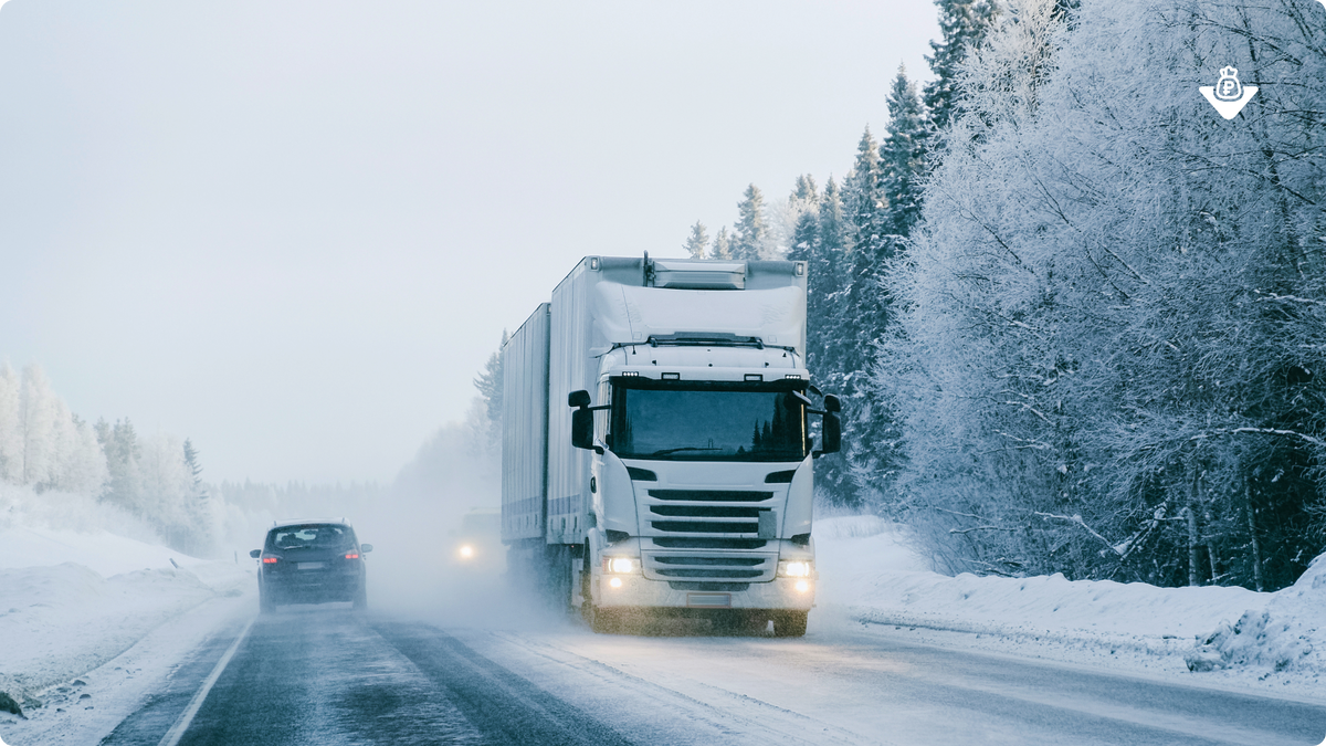
[[[613,580],[621,580],[614,587]],[[802,583],[805,589],[798,589]],[[815,579],[776,577],[768,583],[751,583],[744,591],[719,589],[724,584],[682,584],[674,588],[666,580],[643,575],[601,575],[593,579],[594,605],[610,608],[656,609],[804,609],[815,603]],[[715,588],[715,589],[708,589]]]

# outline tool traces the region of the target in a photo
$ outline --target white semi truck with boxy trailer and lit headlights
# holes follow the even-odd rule
[[[805,349],[804,261],[582,259],[503,348],[508,572],[595,632],[804,634],[841,446]]]

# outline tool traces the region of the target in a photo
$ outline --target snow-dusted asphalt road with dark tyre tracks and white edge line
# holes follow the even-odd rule
[[[243,624],[107,745],[158,745]],[[179,743],[1280,743],[1326,708],[916,644],[822,624],[802,640],[440,629],[335,607],[260,617]]]

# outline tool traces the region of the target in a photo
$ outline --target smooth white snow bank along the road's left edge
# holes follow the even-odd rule
[[[0,530],[0,692],[42,689],[121,654],[156,627],[252,584],[248,564],[207,561],[103,530]]]

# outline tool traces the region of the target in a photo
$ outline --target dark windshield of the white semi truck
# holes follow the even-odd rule
[[[785,384],[644,378],[614,386],[610,438],[621,458],[801,461],[806,414]]]

